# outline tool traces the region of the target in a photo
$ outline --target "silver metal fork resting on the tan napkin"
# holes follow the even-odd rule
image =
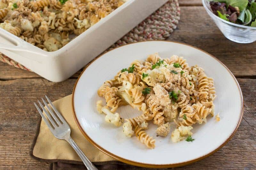
[[[62,115],[59,113],[59,111],[53,106],[51,100],[45,95],[46,99],[48,100],[49,104],[51,105],[52,109],[54,110],[55,114],[53,113],[52,109],[48,106],[48,104],[45,102],[45,100],[42,98],[44,105],[49,110],[49,113],[44,108],[43,104],[38,100],[39,105],[43,109],[44,113],[48,117],[48,120],[43,115],[40,108],[35,104],[39,114],[44,119],[46,125],[51,130],[52,134],[57,137],[58,139],[64,139],[68,141],[68,143],[74,148],[77,155],[82,159],[84,162],[84,165],[87,167],[87,169],[96,170],[97,168],[90,162],[90,160],[84,155],[84,153],[81,151],[81,149],[76,145],[76,143],[73,141],[73,139],[70,137],[70,127],[68,123],[65,121],[65,119],[62,117]]]

